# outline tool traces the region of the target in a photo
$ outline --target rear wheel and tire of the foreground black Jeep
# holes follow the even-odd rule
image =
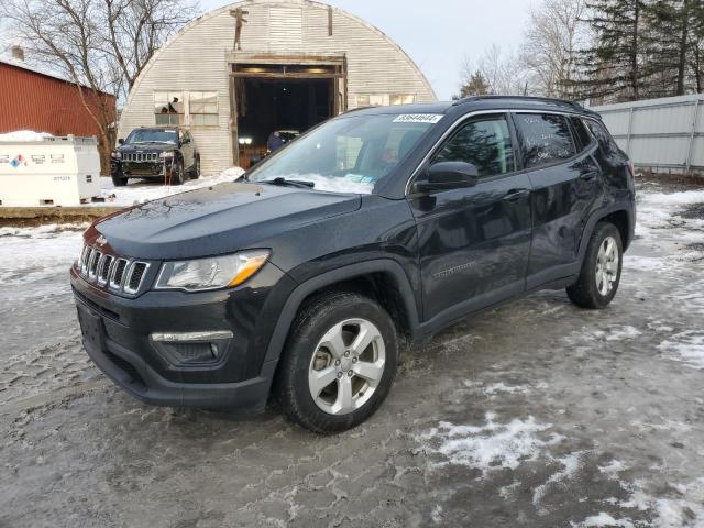
[[[582,308],[606,308],[618,292],[623,265],[620,232],[613,223],[598,223],[586,249],[580,278],[566,288],[568,297]]]

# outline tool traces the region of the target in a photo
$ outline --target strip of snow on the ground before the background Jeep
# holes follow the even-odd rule
[[[240,167],[231,167],[217,176],[202,176],[199,179],[189,179],[184,185],[167,186],[161,182],[130,183],[127,187],[116,187],[111,178],[100,178],[102,198],[105,204],[96,202],[94,206],[131,207],[145,201],[157,200],[167,196],[186,193],[188,190],[211,187],[226,182],[234,182],[244,174]],[[134,182],[134,180],[132,180]]]

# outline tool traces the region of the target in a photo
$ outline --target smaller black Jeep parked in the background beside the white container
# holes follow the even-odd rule
[[[166,184],[182,185],[186,175],[200,177],[200,154],[186,129],[135,129],[118,143],[110,163],[116,187],[128,185],[130,178],[160,178]]]

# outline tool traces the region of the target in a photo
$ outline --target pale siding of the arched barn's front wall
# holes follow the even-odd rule
[[[202,170],[217,173],[231,165],[228,56],[233,52],[235,20],[230,10],[249,13],[242,31],[243,53],[344,55],[348,59],[348,108],[360,94],[413,94],[435,101],[427,79],[388,37],[365,22],[333,10],[328,35],[328,6],[305,0],[239,2],[204,15],[167,43],[145,68],[130,95],[120,122],[120,136],[153,125],[154,91],[218,91],[218,127],[191,127],[201,151]]]

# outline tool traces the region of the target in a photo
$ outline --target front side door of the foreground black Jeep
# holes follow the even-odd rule
[[[530,182],[516,172],[507,116],[471,118],[430,164],[472,163],[469,189],[409,198],[418,226],[426,322],[443,324],[520,294],[530,251]]]

